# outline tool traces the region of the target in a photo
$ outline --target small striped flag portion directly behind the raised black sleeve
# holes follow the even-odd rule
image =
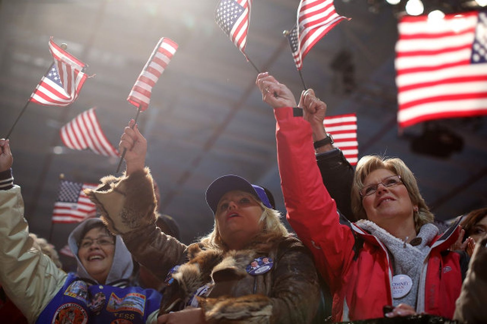
[[[332,135],[334,145],[340,148],[347,161],[356,165],[358,161],[356,114],[325,117],[323,126]]]

